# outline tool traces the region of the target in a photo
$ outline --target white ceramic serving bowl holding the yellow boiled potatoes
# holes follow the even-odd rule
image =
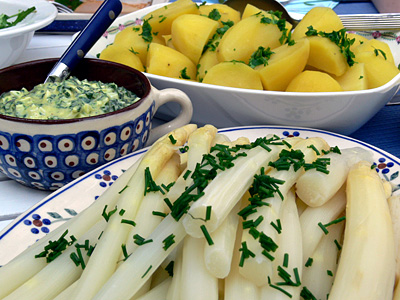
[[[141,17],[162,5],[119,17],[94,45],[89,55],[96,57],[125,26],[140,23]],[[400,63],[398,33],[360,34],[367,38],[390,41],[396,64]],[[400,87],[400,75],[379,88],[340,93],[256,91],[146,75],[157,88],[175,87],[184,91],[193,102],[192,122],[198,124],[211,123],[217,127],[277,124],[314,127],[341,134],[350,134],[364,125],[392,99]],[[176,110],[175,106],[168,105],[161,108],[159,114],[168,119]]]

